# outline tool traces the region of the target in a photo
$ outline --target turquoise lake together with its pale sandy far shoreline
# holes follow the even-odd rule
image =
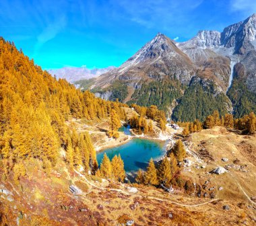
[[[160,161],[166,155],[172,137],[171,133],[155,133],[154,137],[135,135],[129,126],[123,126],[119,132],[121,141],[111,138],[111,143],[98,146],[97,160],[100,163],[105,153],[109,159],[120,154],[125,163],[125,172],[130,176],[139,168],[146,170],[151,158]]]

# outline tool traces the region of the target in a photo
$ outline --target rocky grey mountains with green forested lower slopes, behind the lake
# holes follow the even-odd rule
[[[203,120],[213,110],[256,111],[256,14],[222,32],[187,42],[158,33],[123,65],[90,80],[108,100],[157,105],[174,120]]]

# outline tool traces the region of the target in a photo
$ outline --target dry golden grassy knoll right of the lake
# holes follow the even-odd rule
[[[212,159],[208,162],[205,172],[210,172],[217,166],[224,167],[228,164],[235,167],[230,168],[228,173],[220,176],[199,172],[204,180],[210,180],[224,188],[224,190],[218,192],[219,198],[229,200],[233,204],[241,202],[245,205],[252,204],[245,193],[250,198],[256,194],[255,137],[255,135],[238,135],[236,131],[230,132],[219,126],[194,133],[190,137],[193,149],[201,156],[207,153],[203,158],[205,161]],[[228,162],[222,161],[223,157],[228,158]],[[234,163],[235,160],[236,163]]]

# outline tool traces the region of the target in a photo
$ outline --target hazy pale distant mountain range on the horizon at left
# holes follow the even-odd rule
[[[67,79],[67,81],[74,83],[82,79],[92,79],[98,77],[103,73],[114,69],[115,67],[106,67],[103,69],[88,69],[86,67],[63,67],[61,69],[49,69],[51,75],[55,75],[57,79]]]

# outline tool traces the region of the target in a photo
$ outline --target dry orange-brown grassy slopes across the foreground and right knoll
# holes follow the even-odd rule
[[[133,219],[136,225],[234,225],[245,220],[252,224],[253,209],[247,207],[251,202],[230,174],[216,176],[207,172],[215,165],[224,165],[221,157],[228,157],[230,163],[238,158],[241,164],[248,165],[248,172],[231,172],[249,196],[255,195],[255,160],[251,160],[255,156],[255,137],[236,135],[216,127],[194,133],[190,139],[197,153],[203,143],[215,160],[205,169],[192,168],[193,173],[187,174],[195,180],[211,180],[211,183],[223,186],[224,190],[216,197],[222,200],[195,198],[183,192],[169,195],[148,186],[138,186],[139,192],[131,194],[125,188],[129,184],[97,182],[90,176],[67,169],[61,160],[57,170],[47,177],[35,160],[24,162],[28,172],[21,178],[20,185],[11,180],[2,184],[2,188],[11,192],[1,196],[2,219],[7,219],[9,225],[15,225],[17,217],[20,217],[20,225],[33,225],[32,221],[40,220],[46,222],[46,219],[51,219],[46,225],[117,225],[127,219]],[[78,186],[82,194],[71,194],[71,184]],[[204,203],[208,200],[213,202]],[[222,209],[224,204],[230,205],[230,211]]]

